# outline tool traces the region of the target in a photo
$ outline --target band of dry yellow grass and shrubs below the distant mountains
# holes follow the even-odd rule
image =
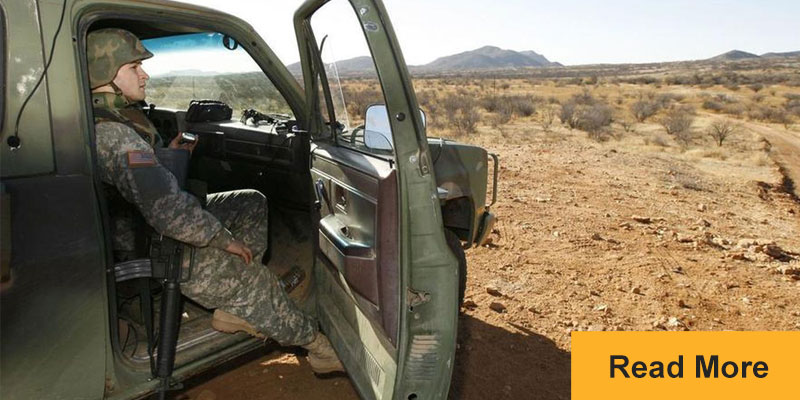
[[[582,136],[633,152],[763,166],[769,158],[761,139],[743,123],[796,129],[800,121],[800,81],[791,73],[800,60],[613,67],[613,73],[576,67],[525,76],[424,76],[414,86],[429,136],[476,143],[571,143]],[[377,89],[374,80],[344,81],[351,121],[380,101]],[[720,121],[725,126],[715,129]]]

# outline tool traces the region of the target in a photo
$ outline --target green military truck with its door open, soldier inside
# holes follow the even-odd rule
[[[464,249],[491,233],[497,156],[427,136],[380,0],[308,0],[293,25],[300,63],[286,66],[247,22],[208,8],[0,0],[0,397],[164,397],[264,346],[215,330],[214,310],[188,298],[160,307],[155,260],[136,270],[115,261],[86,57],[87,33],[102,28],[128,30],[154,53],[141,107],[164,143],[198,138],[188,186],[266,195],[261,264],[300,271],[291,297],[317,317],[358,394],[447,397]],[[331,55],[353,46],[368,72]],[[358,85],[377,95],[354,112],[348,88]],[[186,118],[193,100],[235,111]],[[174,343],[156,339],[164,310],[179,315]],[[163,354],[166,376],[154,365]]]

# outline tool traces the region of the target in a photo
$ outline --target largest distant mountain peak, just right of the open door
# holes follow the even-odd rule
[[[425,71],[453,71],[475,69],[504,69],[525,67],[559,66],[534,51],[518,52],[505,50],[495,46],[484,46],[479,49],[440,57],[433,62],[417,68]]]

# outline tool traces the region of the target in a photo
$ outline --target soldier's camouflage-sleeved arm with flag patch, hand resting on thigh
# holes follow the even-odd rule
[[[199,247],[225,250],[231,244],[230,231],[181,190],[175,176],[158,163],[153,149],[133,129],[101,122],[95,132],[101,178],[135,204],[156,231]]]

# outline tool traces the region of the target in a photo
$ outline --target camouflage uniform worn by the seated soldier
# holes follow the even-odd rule
[[[96,42],[96,48],[114,49],[97,47]],[[91,62],[92,47],[89,52]],[[94,80],[92,87],[97,87]],[[316,322],[292,303],[275,275],[259,262],[267,243],[264,195],[255,190],[216,193],[203,209],[158,163],[153,146],[160,145],[159,136],[141,110],[119,94],[95,93],[92,101],[96,116],[105,116],[95,125],[101,180],[135,206],[157,232],[197,247],[194,273],[182,293],[204,307],[245,319],[281,344],[311,342]],[[130,210],[114,208],[118,208],[112,210],[114,249],[123,255],[134,247],[133,218]],[[247,265],[224,250],[234,238],[252,250],[254,263]]]

